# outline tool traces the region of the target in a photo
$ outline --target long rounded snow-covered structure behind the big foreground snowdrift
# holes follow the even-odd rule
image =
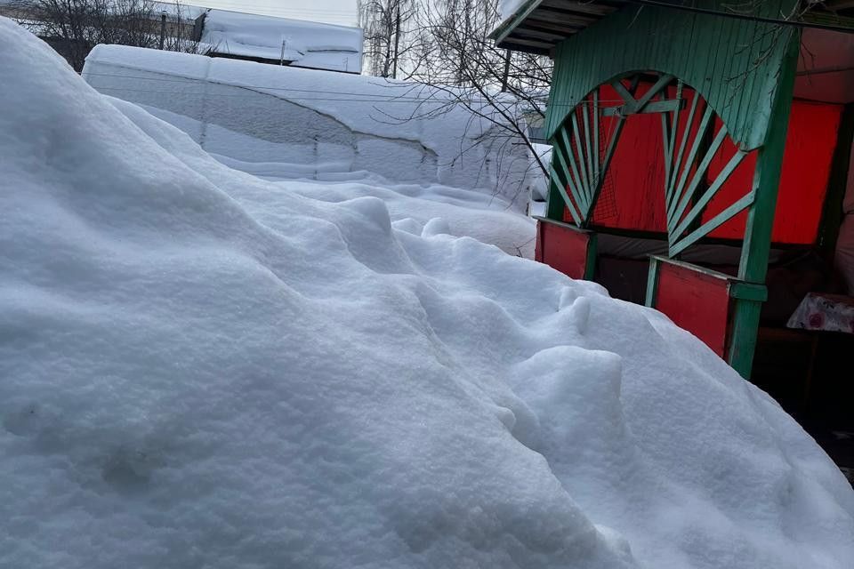
[[[371,172],[498,193],[518,211],[536,183],[520,139],[490,136],[492,122],[412,84],[118,45],[95,47],[84,76],[250,173],[340,180]]]

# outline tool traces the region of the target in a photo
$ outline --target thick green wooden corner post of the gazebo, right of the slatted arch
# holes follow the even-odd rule
[[[755,201],[747,213],[745,242],[742,245],[741,264],[738,277],[748,284],[764,285],[768,274],[771,248],[771,230],[777,209],[777,190],[783,155],[786,149],[786,131],[792,109],[794,78],[797,71],[798,53],[801,47],[800,30],[789,30],[786,55],[780,66],[777,95],[769,117],[765,143],[756,160],[753,174]],[[781,38],[780,41],[786,41]],[[729,365],[750,379],[753,368],[753,353],[756,350],[756,335],[759,332],[761,301],[737,299],[733,315],[729,345]]]

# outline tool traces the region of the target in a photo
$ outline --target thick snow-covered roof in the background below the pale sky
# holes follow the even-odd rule
[[[290,61],[301,68],[360,73],[362,30],[226,10],[205,16],[201,41],[212,53]]]

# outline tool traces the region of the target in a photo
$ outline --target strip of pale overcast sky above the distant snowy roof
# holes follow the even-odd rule
[[[189,0],[184,4],[345,26],[356,25],[356,0]]]

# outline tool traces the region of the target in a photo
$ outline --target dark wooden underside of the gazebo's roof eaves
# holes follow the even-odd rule
[[[569,36],[625,6],[641,8],[644,5],[668,4],[673,10],[704,11],[695,3],[682,0],[528,0],[520,4],[516,12],[495,28],[489,37],[504,49],[551,55],[557,44]],[[854,32],[854,0],[804,0],[803,4],[806,4],[806,10],[794,25]],[[750,18],[744,12],[715,13]]]

